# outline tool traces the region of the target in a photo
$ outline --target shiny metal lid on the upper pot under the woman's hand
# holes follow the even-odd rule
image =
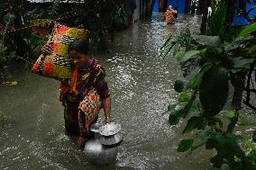
[[[99,134],[103,136],[111,136],[121,130],[121,125],[115,122],[106,123],[99,128]]]

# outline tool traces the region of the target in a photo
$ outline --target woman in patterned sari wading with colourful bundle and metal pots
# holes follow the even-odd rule
[[[94,137],[89,127],[97,121],[101,108],[105,112],[105,122],[111,121],[110,93],[105,68],[96,59],[89,58],[87,41],[71,42],[68,51],[74,71],[69,83],[60,83],[59,101],[64,106],[65,133],[79,135],[78,148],[83,149],[87,140]],[[50,55],[53,49],[45,44],[42,52]]]

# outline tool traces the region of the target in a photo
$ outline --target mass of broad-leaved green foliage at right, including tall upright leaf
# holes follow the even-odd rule
[[[231,74],[249,71],[256,58],[255,24],[245,27],[238,37],[225,41],[224,34],[228,32],[222,30],[226,22],[226,4],[221,1],[212,5],[214,13],[209,29],[212,36],[185,31],[177,38],[169,37],[160,48],[160,55],[172,52],[182,67],[196,65],[189,78],[178,78],[175,82],[179,96],[177,103],[169,105],[169,124],[177,125],[182,119],[187,121],[183,133],[191,135],[180,141],[178,151],[193,151],[204,145],[206,149],[216,150],[215,157],[210,158],[212,169],[223,165],[228,169],[256,169],[255,145],[247,141],[247,147],[242,148],[242,137],[232,133],[236,125],[255,126],[256,123],[240,112],[223,111]],[[228,125],[223,123],[220,113],[229,119]],[[252,139],[256,140],[256,132]]]

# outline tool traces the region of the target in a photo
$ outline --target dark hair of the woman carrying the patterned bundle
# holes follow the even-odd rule
[[[89,43],[87,40],[74,40],[69,44],[68,51],[76,50],[81,54],[88,54],[89,51]]]

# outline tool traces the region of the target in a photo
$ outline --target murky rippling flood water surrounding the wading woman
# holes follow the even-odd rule
[[[116,162],[91,166],[76,148],[76,139],[64,134],[63,107],[59,103],[59,82],[13,70],[18,85],[0,86],[0,169],[133,170],[206,169],[204,151],[178,153],[180,127],[171,127],[165,112],[177,94],[174,80],[181,76],[171,56],[159,58],[159,48],[169,34],[185,28],[199,30],[200,17],[179,15],[175,25],[166,25],[163,13],[151,22],[135,23],[116,34],[109,53],[94,55],[105,67],[111,89],[113,121],[122,124],[124,139]],[[99,121],[104,120],[101,112]],[[181,125],[182,126],[182,123]]]

